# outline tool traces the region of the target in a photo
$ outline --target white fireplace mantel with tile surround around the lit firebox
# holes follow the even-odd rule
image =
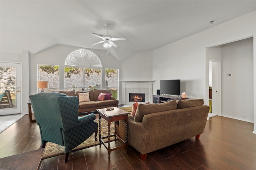
[[[122,83],[122,103],[132,105],[129,102],[129,93],[144,93],[145,102],[153,103],[153,83],[155,80],[128,81],[120,80]]]

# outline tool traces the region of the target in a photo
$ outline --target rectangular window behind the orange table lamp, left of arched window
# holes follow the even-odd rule
[[[48,81],[49,88],[44,92],[59,90],[59,66],[38,64],[38,81]],[[40,92],[40,89],[38,89]]]

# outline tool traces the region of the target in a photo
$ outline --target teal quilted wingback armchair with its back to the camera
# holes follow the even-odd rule
[[[40,129],[42,147],[47,142],[65,146],[68,160],[70,150],[74,149],[95,132],[98,132],[96,116],[91,113],[78,117],[78,97],[66,94],[49,92],[29,96],[36,123]]]

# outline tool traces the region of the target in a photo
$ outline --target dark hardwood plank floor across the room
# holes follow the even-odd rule
[[[64,155],[41,160],[38,169],[256,170],[256,134],[252,131],[253,123],[216,116],[207,121],[200,139],[192,137],[148,153],[145,161],[140,160],[139,152],[132,147],[128,152],[124,149],[111,152],[108,160],[107,150],[96,146],[72,152],[67,163],[62,162]],[[39,149],[40,142],[38,125],[29,122],[25,115],[0,133],[0,158]],[[30,162],[28,159],[27,164]],[[12,167],[16,169],[19,164],[13,162]]]

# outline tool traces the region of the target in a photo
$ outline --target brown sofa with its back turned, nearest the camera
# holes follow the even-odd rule
[[[203,104],[203,99],[139,104],[135,116],[128,115],[128,144],[145,160],[149,152],[194,136],[198,139],[210,109]],[[125,139],[124,120],[119,121],[117,133]]]

